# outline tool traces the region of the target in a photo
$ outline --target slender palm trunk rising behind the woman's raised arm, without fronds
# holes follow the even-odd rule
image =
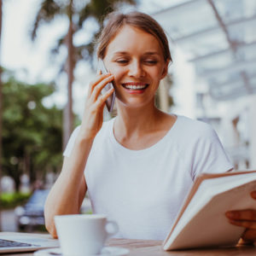
[[[69,27],[67,32],[67,107],[64,109],[64,125],[63,125],[63,148],[66,147],[68,138],[73,131],[73,97],[72,97],[72,85],[73,85],[73,70],[74,70],[74,58],[73,58],[73,0],[69,4]]]

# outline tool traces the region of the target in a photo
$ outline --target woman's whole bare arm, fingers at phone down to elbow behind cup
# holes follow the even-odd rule
[[[98,75],[90,83],[84,115],[79,134],[76,137],[73,150],[65,157],[61,174],[49,192],[45,202],[45,226],[51,236],[56,237],[54,224],[55,215],[79,213],[87,187],[84,178],[84,168],[90,154],[90,148],[98,131],[102,128],[103,108],[105,102],[113,93],[108,90],[100,96],[102,88],[113,80],[110,74]]]

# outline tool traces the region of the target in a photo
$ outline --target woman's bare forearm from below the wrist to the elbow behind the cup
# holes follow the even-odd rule
[[[79,213],[86,183],[84,168],[93,140],[77,138],[72,154],[66,157],[60,176],[49,192],[44,207],[45,226],[52,236],[55,234],[55,215]]]

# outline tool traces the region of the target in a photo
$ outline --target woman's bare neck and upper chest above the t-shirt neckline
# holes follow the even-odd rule
[[[116,140],[125,148],[148,148],[166,135],[176,117],[157,108],[119,108],[113,125]]]

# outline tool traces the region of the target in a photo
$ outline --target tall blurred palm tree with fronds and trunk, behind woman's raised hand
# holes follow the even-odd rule
[[[84,1],[85,2],[85,1]],[[60,38],[58,40],[59,44],[57,48],[53,51],[58,53],[61,45],[66,44],[68,49],[66,65],[61,67],[67,67],[67,76],[68,76],[68,102],[66,111],[64,111],[64,124],[63,124],[63,146],[67,144],[67,140],[73,131],[73,102],[72,102],[72,84],[73,84],[73,70],[76,67],[76,64],[80,60],[91,61],[92,55],[94,52],[93,41],[97,37],[98,33],[102,28],[102,17],[107,15],[109,12],[118,9],[121,4],[136,4],[137,0],[90,0],[89,3],[81,3],[81,1],[70,0],[70,1],[58,1],[58,0],[43,0],[41,7],[38,10],[38,15],[36,16],[35,23],[32,29],[32,40],[36,38],[36,33],[38,27],[42,21],[50,22],[54,20],[57,15],[65,15],[69,20],[69,27],[67,35],[65,38]],[[83,5],[82,5],[83,4]],[[74,19],[74,17],[79,17],[79,19]],[[84,22],[88,18],[94,18],[96,23],[99,25],[99,30],[93,35],[93,40],[89,44],[82,44],[79,47],[74,47],[73,45],[73,35],[78,32]],[[78,20],[75,22],[74,20]]]

